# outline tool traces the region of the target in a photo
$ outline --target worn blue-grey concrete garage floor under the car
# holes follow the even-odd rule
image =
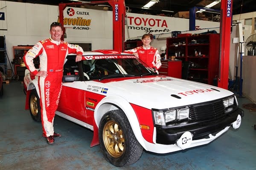
[[[99,146],[90,147],[93,132],[59,116],[55,131],[62,137],[49,145],[41,123],[24,110],[23,84],[4,84],[0,98],[0,170],[256,170],[256,112],[244,109],[241,127],[210,144],[169,154],[143,152],[128,167],[108,163]],[[239,98],[239,105],[250,103]]]

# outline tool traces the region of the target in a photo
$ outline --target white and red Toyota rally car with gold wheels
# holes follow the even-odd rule
[[[170,153],[207,144],[244,112],[225,89],[156,74],[130,54],[110,50],[69,55],[56,114],[93,130],[108,161],[133,164],[143,149]],[[26,71],[26,108],[41,121],[37,77]]]

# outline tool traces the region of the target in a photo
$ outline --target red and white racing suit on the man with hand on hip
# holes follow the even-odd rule
[[[23,57],[29,71],[36,75],[33,59],[40,57],[40,71],[47,71],[47,77],[38,77],[40,92],[41,120],[44,136],[54,133],[53,120],[58,108],[61,94],[63,65],[67,54],[83,54],[79,45],[64,41],[54,41],[51,38],[36,43]]]

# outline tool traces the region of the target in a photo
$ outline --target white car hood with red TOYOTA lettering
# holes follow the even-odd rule
[[[173,77],[126,79],[104,83],[108,95],[121,96],[145,108],[172,108],[208,102],[233,93],[216,86]]]

